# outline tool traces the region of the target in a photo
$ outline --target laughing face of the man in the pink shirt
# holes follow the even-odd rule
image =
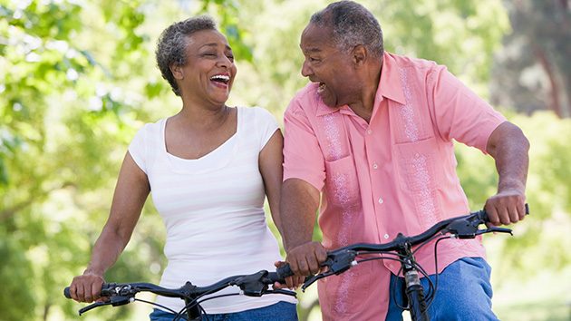
[[[305,56],[302,75],[319,83],[317,93],[329,107],[350,104],[358,83],[351,53],[340,51],[332,40],[331,27],[309,24],[300,47]]]

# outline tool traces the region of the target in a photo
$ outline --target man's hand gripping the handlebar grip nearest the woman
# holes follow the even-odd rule
[[[326,258],[327,251],[321,243],[307,242],[288,250],[285,261],[295,276],[306,277],[318,273]]]

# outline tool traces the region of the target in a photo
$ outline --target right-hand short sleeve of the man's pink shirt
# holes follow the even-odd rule
[[[446,141],[460,141],[487,153],[489,136],[499,124],[506,122],[506,118],[444,66],[436,67],[428,75],[428,91],[429,102],[433,102],[431,113],[440,137]]]

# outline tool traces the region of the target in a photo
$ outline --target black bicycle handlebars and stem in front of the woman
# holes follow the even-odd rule
[[[150,292],[163,297],[179,297],[185,301],[185,306],[180,311],[174,311],[166,306],[160,306],[163,309],[175,314],[173,321],[184,320],[183,316],[187,316],[188,320],[199,321],[208,320],[206,311],[200,306],[200,303],[205,300],[214,299],[216,297],[225,297],[243,294],[248,297],[261,297],[267,294],[284,294],[287,296],[295,297],[293,291],[284,289],[269,289],[269,285],[275,282],[284,284],[284,278],[293,275],[291,270],[287,272],[288,268],[280,267],[276,272],[268,272],[266,270],[258,271],[250,275],[239,275],[233,277],[226,277],[214,284],[206,287],[197,287],[190,282],[179,288],[166,288],[159,287],[152,283],[104,283],[102,285],[102,297],[108,297],[107,301],[95,302],[89,306],[84,306],[79,310],[79,315],[100,306],[123,306],[130,304],[134,301],[144,302],[154,306],[160,306],[154,302],[136,298],[140,292]],[[289,274],[286,274],[289,273]],[[216,293],[226,287],[240,287],[241,293],[226,294],[214,297],[203,298],[206,295]],[[63,295],[67,298],[72,298],[70,295],[70,287],[65,287]],[[203,298],[202,300],[200,300]]]

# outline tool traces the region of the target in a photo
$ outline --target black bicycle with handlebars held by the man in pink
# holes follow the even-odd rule
[[[526,204],[526,215],[529,214],[529,208]],[[402,275],[405,280],[405,293],[407,306],[401,306],[402,309],[408,310],[411,314],[412,321],[428,321],[428,308],[431,301],[436,294],[438,287],[438,273],[436,274],[435,281],[432,282],[428,277],[426,271],[416,262],[414,254],[416,251],[429,243],[431,240],[438,238],[434,245],[434,260],[436,270],[438,270],[438,256],[437,247],[438,242],[445,238],[476,238],[477,236],[490,232],[509,233],[512,234],[511,229],[488,227],[487,229],[479,229],[482,224],[489,223],[488,214],[485,210],[471,212],[469,215],[460,216],[452,219],[445,219],[433,225],[430,229],[423,233],[406,237],[399,233],[389,243],[384,244],[370,244],[358,243],[346,246],[344,248],[337,248],[333,251],[327,252],[327,258],[321,267],[324,272],[318,273],[315,276],[310,276],[305,279],[302,290],[311,286],[315,281],[323,277],[332,275],[339,275],[344,273],[349,268],[353,268],[357,264],[375,260],[375,259],[392,259],[401,262]],[[418,248],[412,249],[418,246]],[[378,256],[379,254],[385,256]],[[376,255],[372,258],[363,258],[367,255]],[[387,257],[390,255],[391,257]],[[359,257],[359,259],[357,259]],[[283,272],[286,276],[290,274],[289,266],[285,266]],[[424,295],[424,287],[421,285],[419,272],[422,276],[426,277],[429,282],[429,289],[427,295]],[[400,275],[401,273],[399,273]]]

